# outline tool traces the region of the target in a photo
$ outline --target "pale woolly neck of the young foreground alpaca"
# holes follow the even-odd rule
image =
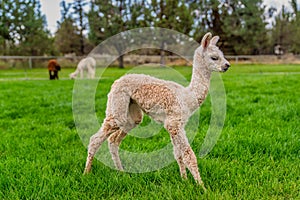
[[[207,96],[210,84],[211,71],[207,69],[206,63],[199,55],[194,56],[193,74],[188,86],[193,97],[196,98],[198,106]]]

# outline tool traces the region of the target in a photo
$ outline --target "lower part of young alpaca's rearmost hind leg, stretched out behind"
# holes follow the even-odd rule
[[[107,117],[104,120],[104,123],[100,130],[90,138],[90,143],[88,146],[88,156],[86,160],[84,173],[89,173],[91,171],[94,156],[100,148],[101,144],[109,137],[111,133],[116,132],[118,130],[119,127],[116,125],[112,117]]]

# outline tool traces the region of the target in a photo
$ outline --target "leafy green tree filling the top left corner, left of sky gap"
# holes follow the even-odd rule
[[[43,55],[53,52],[50,32],[38,0],[4,0],[0,7],[2,54]]]

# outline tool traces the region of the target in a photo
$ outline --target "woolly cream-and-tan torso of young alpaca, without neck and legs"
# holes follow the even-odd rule
[[[187,99],[188,92],[180,84],[144,74],[128,74],[112,85],[107,114],[115,116],[118,109],[111,108],[128,107],[128,104],[134,102],[157,122],[163,123],[166,116],[171,115],[185,121],[191,113],[185,103]]]

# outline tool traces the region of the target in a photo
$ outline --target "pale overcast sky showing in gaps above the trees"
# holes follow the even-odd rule
[[[60,19],[60,6],[61,0],[40,0],[42,5],[42,12],[46,15],[48,29],[51,33],[54,33],[57,28],[57,21]],[[66,2],[72,2],[73,0],[66,0]],[[264,0],[267,6],[274,6],[281,9],[282,5],[290,7],[290,0]],[[298,5],[300,5],[300,0],[297,0]]]

